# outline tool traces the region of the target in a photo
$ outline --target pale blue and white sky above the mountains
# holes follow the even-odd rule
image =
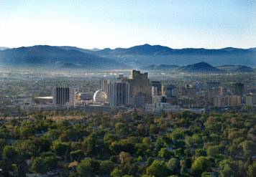
[[[0,46],[256,47],[256,0],[0,0]]]

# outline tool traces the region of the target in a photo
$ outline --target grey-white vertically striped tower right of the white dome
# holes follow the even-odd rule
[[[129,104],[129,83],[109,82],[108,101],[111,107],[127,106]]]

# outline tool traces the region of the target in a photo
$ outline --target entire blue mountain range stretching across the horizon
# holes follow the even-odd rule
[[[242,71],[242,66],[256,67],[256,48],[172,49],[161,45],[143,44],[116,49],[81,49],[70,46],[40,45],[0,50],[0,64],[5,65],[131,69],[152,64],[152,66],[161,66],[167,69],[201,61],[212,66],[221,66],[222,69],[225,67],[225,70],[232,68],[230,71],[234,70],[234,65],[240,65],[237,69]],[[218,67],[215,69],[215,71],[221,70]]]

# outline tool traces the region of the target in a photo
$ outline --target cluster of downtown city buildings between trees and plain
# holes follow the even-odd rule
[[[79,92],[72,87],[55,87],[52,97],[35,97],[35,109],[76,108],[87,111],[127,110],[140,107],[145,112],[166,113],[191,110],[204,113],[214,107],[255,106],[256,95],[245,93],[244,85],[236,82],[206,82],[204,85],[163,84],[151,81],[147,72],[132,70],[129,77],[101,79],[94,94]],[[30,106],[31,109],[31,106]]]

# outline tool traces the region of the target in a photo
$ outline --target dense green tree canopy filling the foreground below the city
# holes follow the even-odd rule
[[[254,114],[58,114],[1,120],[3,176],[256,175]]]

